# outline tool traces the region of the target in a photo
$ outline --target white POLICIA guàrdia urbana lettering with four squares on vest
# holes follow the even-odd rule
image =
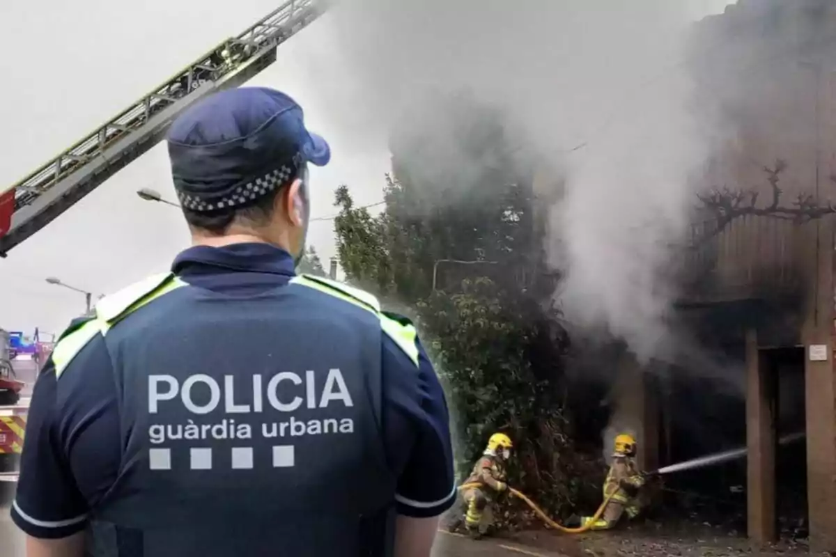
[[[265,420],[256,424],[255,431],[252,424],[236,423],[234,418],[206,420],[206,414],[214,413],[216,410],[227,416],[241,414],[241,418],[245,418],[247,414],[263,413],[265,408],[268,411],[273,409],[288,414],[303,405],[309,410],[329,408],[332,404],[342,405],[342,408],[354,406],[343,374],[338,368],[330,369],[324,382],[321,380],[322,374],[314,371],[305,372],[303,377],[294,372],[280,372],[273,377],[252,375],[247,377],[252,379],[248,382],[244,377],[225,375],[221,385],[214,377],[205,374],[191,375],[182,384],[171,375],[150,375],[149,441],[156,447],[167,445],[169,443],[166,442],[169,441],[232,441],[237,445],[230,448],[232,468],[253,468],[252,447],[241,445],[247,444],[247,440],[254,436],[270,439],[325,433],[354,433],[354,419],[334,417],[330,412],[328,418],[322,419],[299,420],[291,415],[281,421]],[[167,404],[180,405],[195,417],[181,423],[159,423],[164,420],[155,420],[155,415],[159,416]],[[176,414],[183,415],[180,412]],[[191,469],[213,468],[212,448],[195,446],[189,450]],[[152,470],[171,469],[171,448],[150,448],[149,464]],[[294,465],[293,445],[273,446],[274,468]]]

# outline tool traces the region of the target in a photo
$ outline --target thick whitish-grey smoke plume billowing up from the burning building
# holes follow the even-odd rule
[[[507,109],[526,147],[566,173],[548,246],[567,273],[566,318],[649,357],[670,302],[660,269],[705,160],[682,64],[691,16],[670,0],[351,0],[330,16],[344,58],[330,116],[362,141],[395,121],[435,125],[438,93]],[[482,163],[461,145],[447,155],[427,164]]]

